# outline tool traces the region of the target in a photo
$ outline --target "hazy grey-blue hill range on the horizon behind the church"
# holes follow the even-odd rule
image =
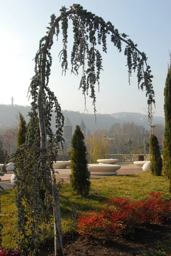
[[[26,122],[29,122],[28,112],[30,111],[30,106],[19,106],[19,105],[0,105],[0,125],[3,126],[16,126],[18,120],[16,116],[18,113],[22,113]],[[109,129],[111,125],[116,122],[123,124],[124,122],[134,122],[137,125],[143,125],[145,128],[149,128],[148,117],[141,113],[131,113],[131,112],[120,112],[113,114],[96,114],[97,122],[95,122],[94,114],[85,114],[75,111],[62,111],[64,116],[70,119],[72,123],[72,132],[75,130],[76,125],[81,124],[81,119],[83,119],[86,125],[86,131],[96,131],[99,129]],[[153,117],[153,124],[161,123],[164,125],[165,119],[161,116]],[[52,120],[52,129],[55,131],[55,121]]]

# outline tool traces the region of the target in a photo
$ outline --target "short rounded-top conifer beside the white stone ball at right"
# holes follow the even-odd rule
[[[150,137],[151,164],[150,171],[153,175],[161,176],[162,174],[162,157],[160,154],[159,142],[154,134]]]

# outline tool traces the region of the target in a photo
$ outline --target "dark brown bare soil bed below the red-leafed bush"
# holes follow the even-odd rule
[[[142,251],[157,249],[159,241],[169,239],[169,233],[171,225],[160,224],[138,227],[132,238],[116,236],[108,242],[94,237],[85,238],[76,233],[73,236],[67,234],[64,235],[64,256],[142,256]],[[54,244],[49,246],[48,243],[43,256],[54,256]]]

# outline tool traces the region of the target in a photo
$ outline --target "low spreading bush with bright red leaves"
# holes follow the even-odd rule
[[[78,218],[78,232],[111,239],[114,235],[133,233],[140,224],[161,223],[171,218],[171,203],[162,192],[149,193],[150,198],[132,202],[129,198],[110,198],[101,212],[87,212]]]

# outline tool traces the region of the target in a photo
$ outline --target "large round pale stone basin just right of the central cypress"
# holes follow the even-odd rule
[[[116,175],[116,171],[120,168],[121,166],[113,164],[88,164],[88,169],[92,175]]]

